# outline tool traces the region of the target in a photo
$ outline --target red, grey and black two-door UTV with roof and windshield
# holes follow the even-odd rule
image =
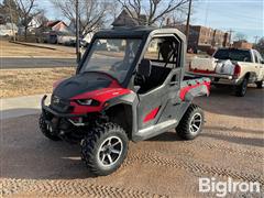
[[[41,131],[53,141],[79,142],[96,175],[120,167],[130,140],[172,129],[195,139],[204,112],[191,100],[209,95],[210,80],[184,77],[185,53],[185,35],[176,29],[96,33],[76,75],[55,84],[51,105],[42,99]]]

